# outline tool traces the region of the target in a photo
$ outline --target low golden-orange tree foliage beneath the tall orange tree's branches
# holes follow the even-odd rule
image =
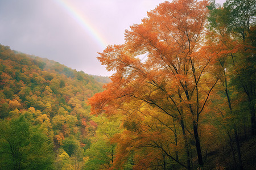
[[[177,169],[184,165],[184,143],[174,119],[143,101],[135,100],[118,107],[122,116],[122,133],[113,138],[117,143],[114,167],[134,169]],[[182,134],[182,133],[181,133]]]

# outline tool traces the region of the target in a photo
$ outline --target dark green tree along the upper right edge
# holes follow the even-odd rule
[[[233,56],[233,85],[247,96],[251,133],[256,134],[255,120],[255,0],[228,0],[224,3],[226,28],[242,48]]]

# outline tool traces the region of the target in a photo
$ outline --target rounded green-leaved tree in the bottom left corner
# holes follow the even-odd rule
[[[2,169],[52,167],[52,142],[24,116],[0,122],[0,143]]]

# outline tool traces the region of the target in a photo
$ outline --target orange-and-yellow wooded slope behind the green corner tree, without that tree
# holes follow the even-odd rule
[[[75,164],[71,158],[77,159],[79,166],[81,153],[89,147],[89,137],[97,126],[86,100],[102,91],[102,84],[82,71],[0,45],[0,124],[24,117],[30,126],[41,129],[53,146],[55,163],[51,166],[62,167],[64,160],[69,160],[66,165]],[[8,131],[2,128],[1,133]],[[8,144],[6,138],[0,134],[1,145]],[[0,158],[2,168],[14,164],[7,158]]]

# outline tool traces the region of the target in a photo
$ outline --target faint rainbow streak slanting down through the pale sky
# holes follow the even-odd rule
[[[55,0],[60,6],[64,8],[65,11],[68,12],[69,15],[76,20],[77,23],[84,29],[86,33],[89,33],[90,36],[93,37],[94,40],[101,46],[101,48],[105,49],[108,43],[104,40],[104,38],[100,35],[96,28],[93,27],[93,24],[90,23],[88,19],[84,17],[84,15],[70,2],[66,0]]]

